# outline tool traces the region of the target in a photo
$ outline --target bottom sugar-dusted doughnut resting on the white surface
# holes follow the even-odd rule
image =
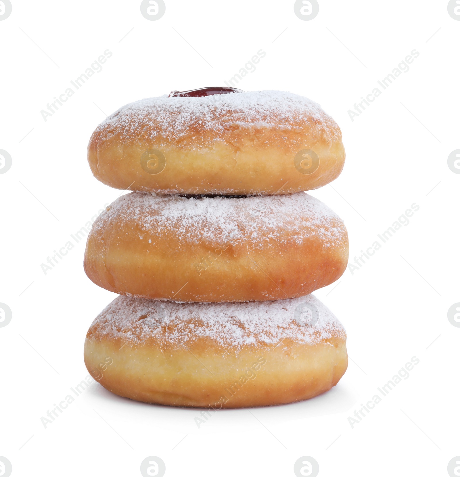
[[[88,371],[136,401],[214,409],[286,404],[347,368],[342,324],[312,295],[177,303],[120,296],[91,325]]]

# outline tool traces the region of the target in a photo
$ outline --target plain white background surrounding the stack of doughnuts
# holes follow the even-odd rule
[[[447,1],[320,0],[311,21],[293,1],[167,1],[158,21],[140,1],[12,2],[0,21],[0,149],[12,157],[0,175],[0,301],[12,310],[0,328],[0,456],[12,475],[140,476],[155,455],[166,476],[293,476],[301,456],[320,476],[447,476],[460,455],[460,328],[447,319],[460,301],[460,175],[447,166],[460,148],[460,21]],[[45,122],[46,104],[106,49],[103,70]],[[200,428],[199,410],[93,383],[44,428],[87,375],[86,331],[115,298],[86,278],[84,241],[41,269],[120,194],[91,174],[92,131],[137,99],[223,85],[260,49],[238,87],[308,96],[342,128],[344,171],[312,195],[344,219],[350,262],[420,207],[359,270],[315,292],[347,330],[345,376],[310,401],[223,410]],[[352,122],[347,111],[414,49],[409,71]],[[409,378],[352,428],[348,417],[413,356]]]

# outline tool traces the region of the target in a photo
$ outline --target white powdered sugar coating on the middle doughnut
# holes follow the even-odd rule
[[[117,198],[107,209],[95,221],[94,232],[129,221],[136,224],[139,238],[146,241],[174,236],[188,244],[221,247],[244,242],[263,248],[273,240],[302,243],[312,238],[330,248],[347,240],[342,220],[304,192],[241,198],[132,192]]]

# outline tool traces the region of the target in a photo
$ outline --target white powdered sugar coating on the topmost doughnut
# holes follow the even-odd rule
[[[189,141],[189,129],[193,140]],[[121,142],[146,138],[156,146],[205,147],[234,129],[273,131],[308,129],[316,140],[340,141],[331,116],[314,101],[285,91],[252,91],[203,97],[146,98],[126,104],[94,131],[104,141],[118,135]],[[209,134],[210,133],[210,134]],[[182,138],[178,141],[179,138]],[[176,142],[177,141],[177,142]]]

